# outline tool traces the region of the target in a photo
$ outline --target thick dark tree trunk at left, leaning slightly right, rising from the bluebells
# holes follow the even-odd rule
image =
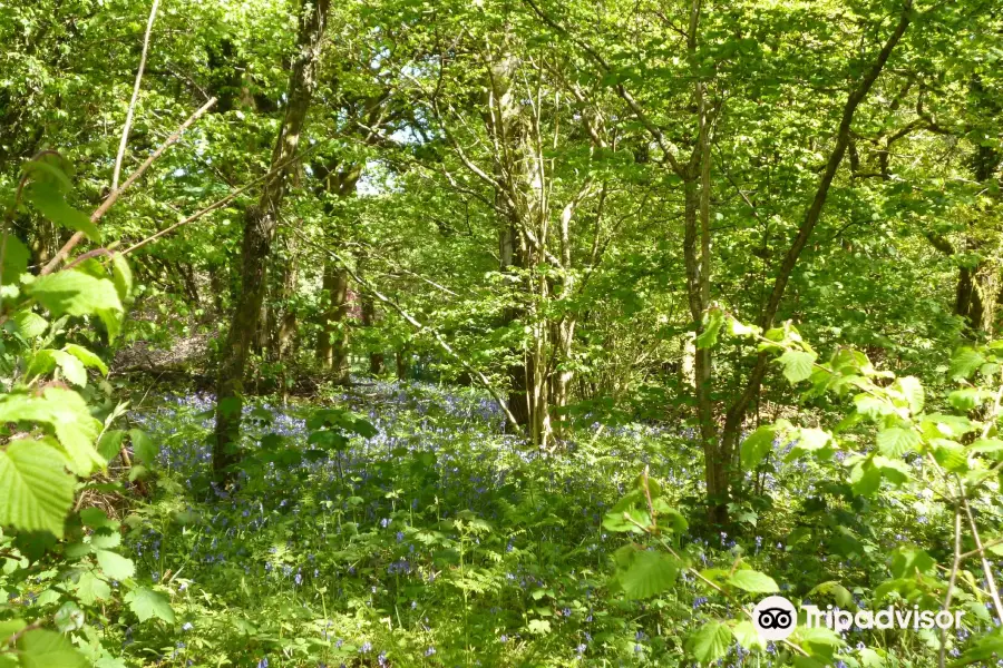
[[[236,299],[226,345],[222,351],[216,382],[213,473],[217,482],[228,480],[232,466],[240,461],[242,395],[247,356],[257,334],[265,291],[265,267],[272,250],[279,210],[286,194],[289,176],[295,168],[293,158],[317,86],[317,69],[329,6],[330,0],[303,4],[296,38],[296,58],[289,79],[285,118],[272,151],[272,174],[262,186],[257,205],[249,206],[244,214],[241,293]]]

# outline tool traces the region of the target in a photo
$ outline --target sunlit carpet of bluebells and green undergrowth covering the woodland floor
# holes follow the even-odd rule
[[[295,454],[309,450],[311,413],[330,406],[374,429],[323,456]],[[126,656],[250,668],[691,666],[685,637],[705,616],[736,613],[685,576],[646,602],[610,586],[611,556],[627,539],[607,533],[603,515],[644,466],[679,508],[697,507],[700,455],[680,426],[593,425],[537,452],[475,391],[368,383],[310,405],[246,407],[247,463],[220,489],[212,410],[212,396],[188,394],[132,416],[160,450],[126,553],[139,579],[169,595],[177,620],[125,628]],[[810,497],[817,478],[802,469],[752,482],[781,501]],[[866,583],[873,560],[903,538],[849,513],[734,510],[741,539],[691,522],[681,549],[705,568],[741,554],[801,595],[826,580]],[[857,558],[821,549],[840,527],[866,537]],[[721,665],[769,657],[734,645]]]

